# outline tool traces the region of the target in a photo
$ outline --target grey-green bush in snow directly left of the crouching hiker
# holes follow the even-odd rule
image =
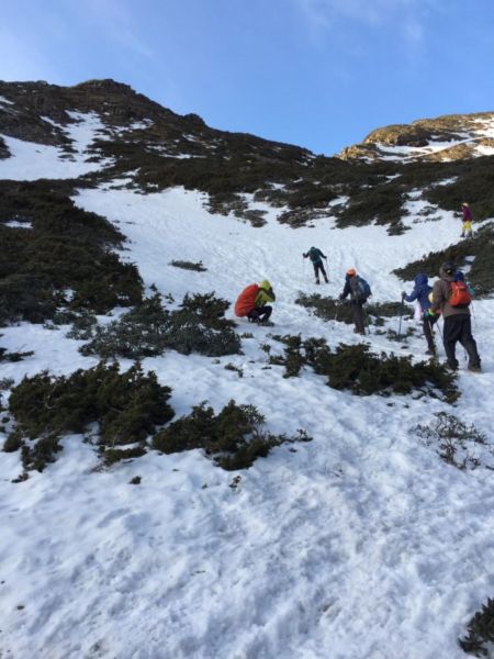
[[[142,359],[166,349],[209,357],[240,351],[235,323],[224,317],[229,303],[214,293],[187,294],[179,309],[168,311],[159,293],[144,300],[109,325],[98,326],[82,355]]]

